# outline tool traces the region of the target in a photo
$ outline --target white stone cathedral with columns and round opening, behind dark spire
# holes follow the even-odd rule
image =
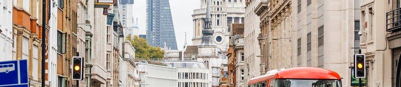
[[[200,0],[200,8],[193,10],[193,45],[200,45],[202,41],[206,2],[207,0]],[[214,43],[227,53],[231,23],[244,23],[245,0],[211,0],[210,6]]]

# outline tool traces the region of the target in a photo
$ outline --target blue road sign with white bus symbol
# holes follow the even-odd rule
[[[27,60],[0,62],[0,87],[28,87]]]

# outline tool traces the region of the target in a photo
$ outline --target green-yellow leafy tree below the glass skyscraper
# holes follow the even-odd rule
[[[160,47],[152,47],[147,44],[145,38],[140,38],[136,35],[128,35],[125,39],[126,41],[131,42],[132,46],[134,46],[136,58],[160,60],[164,57],[164,51],[161,50]]]

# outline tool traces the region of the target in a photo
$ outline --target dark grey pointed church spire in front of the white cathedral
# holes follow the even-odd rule
[[[211,18],[211,13],[210,13],[210,1],[208,0],[208,4],[206,7],[206,17],[204,19],[204,30],[202,30],[202,42],[200,43],[200,46],[216,46],[215,43],[213,42],[213,30],[212,30],[212,18]]]

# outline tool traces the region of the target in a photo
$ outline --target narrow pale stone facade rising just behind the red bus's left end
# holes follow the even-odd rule
[[[259,28],[259,17],[254,10],[260,0],[247,0],[245,7],[245,23],[244,23],[244,87],[248,87],[247,82],[260,75],[264,75],[265,69],[261,55],[261,48],[258,43],[258,35],[261,33]]]

